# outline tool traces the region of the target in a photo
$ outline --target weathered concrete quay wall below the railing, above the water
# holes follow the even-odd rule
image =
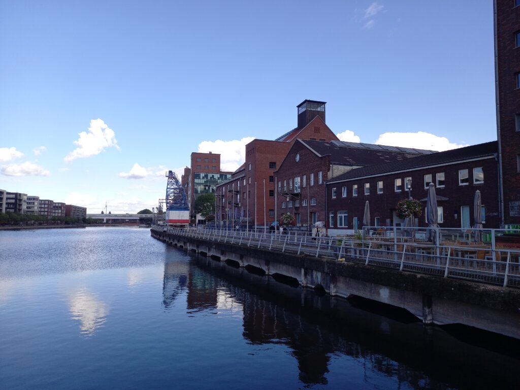
[[[332,296],[361,296],[407,309],[425,324],[461,323],[520,339],[520,290],[365,266],[308,255],[175,236],[151,230],[167,244],[282,275]]]

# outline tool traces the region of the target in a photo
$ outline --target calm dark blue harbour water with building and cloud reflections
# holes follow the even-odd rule
[[[0,388],[520,388],[518,343],[424,330],[166,246],[0,231]]]

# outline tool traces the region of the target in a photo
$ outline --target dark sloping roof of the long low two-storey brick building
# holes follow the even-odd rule
[[[444,152],[421,155],[410,159],[387,162],[384,164],[363,166],[335,177],[330,182],[355,179],[358,177],[384,175],[392,172],[410,171],[417,168],[456,163],[468,159],[490,157],[498,152],[498,141],[486,142],[467,146],[465,148],[451,149]]]

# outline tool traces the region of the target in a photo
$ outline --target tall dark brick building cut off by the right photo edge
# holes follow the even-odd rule
[[[503,223],[520,225],[520,0],[495,0],[497,137]]]

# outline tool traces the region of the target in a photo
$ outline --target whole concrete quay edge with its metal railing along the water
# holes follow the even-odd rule
[[[482,256],[468,245],[163,227],[151,235],[333,296],[403,307],[425,324],[461,323],[520,339],[520,270],[512,250]]]

